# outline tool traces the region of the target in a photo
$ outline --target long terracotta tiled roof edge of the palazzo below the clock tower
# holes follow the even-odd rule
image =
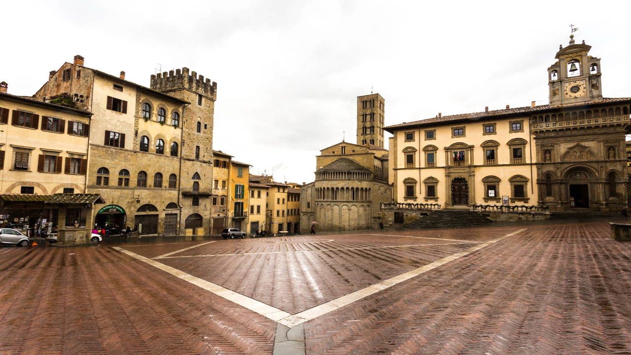
[[[503,116],[503,115],[509,115],[509,114],[518,114],[518,113],[530,113],[530,112],[545,111],[549,109],[562,109],[564,107],[585,106],[585,105],[593,105],[593,104],[609,104],[609,103],[622,102],[622,101],[631,101],[631,97],[615,97],[615,98],[605,97],[603,98],[603,100],[599,100],[599,101],[580,102],[577,104],[566,104],[566,105],[561,105],[558,107],[557,106],[553,107],[550,105],[539,105],[539,106],[534,106],[534,107],[526,106],[526,107],[516,107],[514,109],[492,110],[488,112],[471,112],[471,113],[466,113],[466,114],[454,114],[454,115],[449,115],[449,116],[421,119],[419,121],[413,121],[413,122],[392,124],[392,126],[384,127],[384,129],[392,133],[392,131],[395,131],[396,129],[411,128],[415,126],[426,126],[430,124],[441,124],[441,123],[447,123],[450,121],[460,121],[460,120],[465,120],[465,119],[480,119],[483,117]]]

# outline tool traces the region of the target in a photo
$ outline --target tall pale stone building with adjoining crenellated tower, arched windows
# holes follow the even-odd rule
[[[69,99],[93,113],[87,190],[109,203],[95,224],[142,234],[210,232],[216,83],[183,68],[151,75],[148,88],[75,56],[49,73],[35,98]]]

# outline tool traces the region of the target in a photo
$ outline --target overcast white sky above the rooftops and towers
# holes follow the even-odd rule
[[[548,102],[546,69],[570,23],[602,58],[605,97],[630,97],[629,1],[3,2],[0,81],[32,95],[75,54],[149,86],[187,66],[218,83],[213,148],[314,178],[315,155],[355,143],[356,97],[386,125]],[[386,137],[389,133],[386,133]],[[386,138],[387,140],[387,138]]]

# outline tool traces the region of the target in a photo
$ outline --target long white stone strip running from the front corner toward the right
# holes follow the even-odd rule
[[[449,255],[446,258],[442,258],[433,263],[429,263],[423,267],[416,268],[404,274],[392,277],[391,279],[384,280],[382,282],[379,282],[378,284],[365,287],[364,289],[351,292],[350,294],[347,294],[346,296],[342,296],[340,298],[334,299],[333,301],[329,301],[319,306],[315,306],[314,308],[310,308],[309,310],[302,311],[295,315],[287,316],[286,318],[283,318],[276,322],[281,323],[282,325],[285,325],[285,327],[289,327],[289,328],[295,327],[298,324],[302,324],[304,322],[312,320],[321,315],[325,315],[326,313],[337,310],[338,308],[351,304],[355,301],[365,298],[366,296],[370,296],[371,294],[387,289],[388,287],[394,286],[398,284],[399,282],[409,280],[412,277],[423,274],[424,272],[428,272],[429,270],[432,270],[433,268],[437,268],[440,265],[444,265],[445,263],[451,262],[452,260],[456,260],[457,258],[460,258],[464,255],[467,255],[469,253],[473,253],[474,251],[485,248],[486,246],[489,246],[490,244],[497,243],[498,241],[501,241],[502,239],[509,238],[510,236],[514,236],[515,234],[522,231],[526,231],[526,228],[519,229],[519,231],[512,232],[500,238],[493,239],[491,241],[487,241],[485,243],[481,243],[479,245],[473,246],[469,248],[468,250],[464,250],[459,253]]]

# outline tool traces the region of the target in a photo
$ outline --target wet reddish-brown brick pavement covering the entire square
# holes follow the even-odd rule
[[[631,354],[631,243],[606,222],[492,226],[119,246],[213,241],[153,260],[297,313],[528,228],[309,320],[307,354]],[[275,322],[114,245],[0,247],[0,354],[271,354]]]

